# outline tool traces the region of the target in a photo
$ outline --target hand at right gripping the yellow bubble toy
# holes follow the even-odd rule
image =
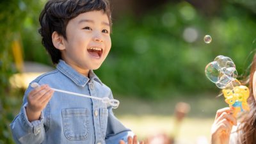
[[[232,109],[219,109],[212,124],[212,144],[228,144],[233,125],[237,125],[236,117],[232,115]]]

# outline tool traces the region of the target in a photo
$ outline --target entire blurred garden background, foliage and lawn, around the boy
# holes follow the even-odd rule
[[[95,73],[120,100],[116,116],[140,140],[152,136],[150,143],[209,143],[216,110],[227,104],[205,77],[205,66],[224,55],[236,64],[239,79],[248,76],[256,1],[110,1],[112,48]],[[13,143],[9,124],[26,86],[54,69],[38,34],[45,3],[0,1],[0,144]]]

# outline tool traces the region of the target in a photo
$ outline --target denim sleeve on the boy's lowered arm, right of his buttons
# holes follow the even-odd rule
[[[109,99],[113,99],[112,93],[109,95]],[[119,144],[120,140],[124,140],[127,143],[128,136],[134,136],[134,133],[127,129],[114,115],[112,107],[109,106],[108,114],[108,126],[106,131],[106,144]]]

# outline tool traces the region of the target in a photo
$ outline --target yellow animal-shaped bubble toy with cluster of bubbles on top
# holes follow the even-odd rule
[[[237,70],[234,62],[227,56],[217,56],[206,65],[205,76],[222,89],[225,102],[233,109],[233,115],[240,111],[249,111],[247,104],[250,91],[236,79]]]

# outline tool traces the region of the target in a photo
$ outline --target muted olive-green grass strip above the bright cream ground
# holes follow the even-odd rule
[[[177,102],[186,102],[191,110],[188,116],[191,118],[211,118],[217,109],[227,107],[223,96],[216,97],[218,93],[205,93],[202,95],[189,95],[186,97],[169,97],[163,99],[138,99],[135,97],[118,97],[120,106],[115,109],[115,115],[163,115],[170,116],[174,113]]]

